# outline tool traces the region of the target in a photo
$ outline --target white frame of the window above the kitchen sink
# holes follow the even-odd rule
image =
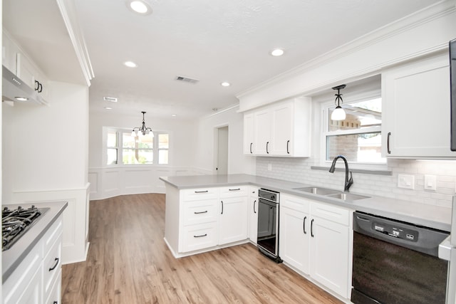
[[[344,101],[343,103],[349,105],[351,103],[360,103],[362,101],[371,100],[375,98],[381,98],[380,90],[373,90],[365,93],[358,93],[350,95],[349,102]],[[335,135],[358,135],[358,134],[368,134],[373,132],[380,132],[382,134],[382,125],[373,126],[373,127],[364,127],[363,129],[347,129],[347,130],[329,130],[329,112],[335,107],[333,100],[321,102],[321,145],[320,145],[320,165],[323,167],[330,167],[333,160],[326,160],[326,143],[328,136]],[[343,105],[342,105],[343,108]],[[382,124],[383,124],[383,109],[382,109]],[[361,131],[362,130],[362,131]],[[385,157],[383,157],[385,158]],[[385,162],[353,162],[353,160],[348,161],[351,169],[367,169],[367,170],[388,170],[388,159],[385,158]],[[338,164],[339,167],[341,164]]]

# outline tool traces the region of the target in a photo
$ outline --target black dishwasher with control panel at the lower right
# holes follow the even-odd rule
[[[355,304],[445,304],[447,261],[440,260],[445,231],[353,214]]]

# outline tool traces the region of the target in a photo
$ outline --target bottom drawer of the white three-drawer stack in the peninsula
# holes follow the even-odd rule
[[[217,223],[185,226],[181,252],[195,251],[217,245]]]

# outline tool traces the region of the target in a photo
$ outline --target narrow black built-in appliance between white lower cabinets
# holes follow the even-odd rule
[[[279,192],[268,189],[258,191],[258,238],[261,253],[277,263],[279,257]]]

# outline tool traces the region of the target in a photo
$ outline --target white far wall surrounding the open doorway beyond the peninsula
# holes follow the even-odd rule
[[[228,126],[228,174],[254,174],[255,159],[244,155],[244,115],[232,108],[224,112],[203,117],[198,122],[195,167],[202,172],[216,174],[214,142],[217,127]]]

